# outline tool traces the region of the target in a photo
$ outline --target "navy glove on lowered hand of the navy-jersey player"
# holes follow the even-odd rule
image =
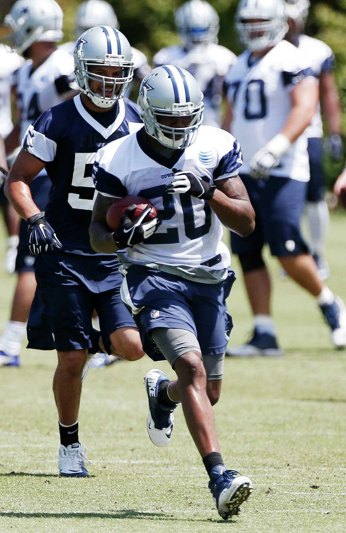
[[[29,250],[31,255],[52,252],[54,248],[62,248],[53,228],[45,219],[44,212],[32,215],[28,219]]]

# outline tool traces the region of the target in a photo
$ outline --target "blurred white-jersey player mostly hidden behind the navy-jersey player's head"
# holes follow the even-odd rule
[[[112,28],[120,28],[119,21],[113,7],[105,0],[86,0],[78,6],[76,13],[76,38],[84,31],[93,26],[111,26]],[[75,42],[64,43],[60,45],[60,49],[65,50],[73,55],[75,50]],[[132,60],[134,62],[134,79],[137,83],[142,82],[144,76],[149,72],[150,67],[148,60],[143,52],[132,47]],[[128,88],[128,93],[130,87]]]

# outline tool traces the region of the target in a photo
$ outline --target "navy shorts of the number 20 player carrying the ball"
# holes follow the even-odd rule
[[[121,290],[134,312],[145,353],[154,361],[164,360],[150,335],[153,328],[177,328],[193,333],[202,356],[224,353],[233,327],[226,298],[234,280],[235,274],[230,269],[225,281],[210,285],[131,265]]]

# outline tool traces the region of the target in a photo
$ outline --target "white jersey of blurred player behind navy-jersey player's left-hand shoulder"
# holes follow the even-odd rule
[[[21,139],[28,126],[44,111],[61,103],[72,89],[77,89],[73,69],[71,55],[59,49],[32,74],[31,60],[20,68],[17,74],[17,99],[21,110]]]

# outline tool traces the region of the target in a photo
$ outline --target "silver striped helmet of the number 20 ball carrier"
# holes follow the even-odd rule
[[[163,65],[147,74],[139,89],[138,104],[146,132],[169,148],[184,149],[196,138],[203,122],[203,93],[187,70]],[[186,127],[164,124],[164,117],[189,117]]]

